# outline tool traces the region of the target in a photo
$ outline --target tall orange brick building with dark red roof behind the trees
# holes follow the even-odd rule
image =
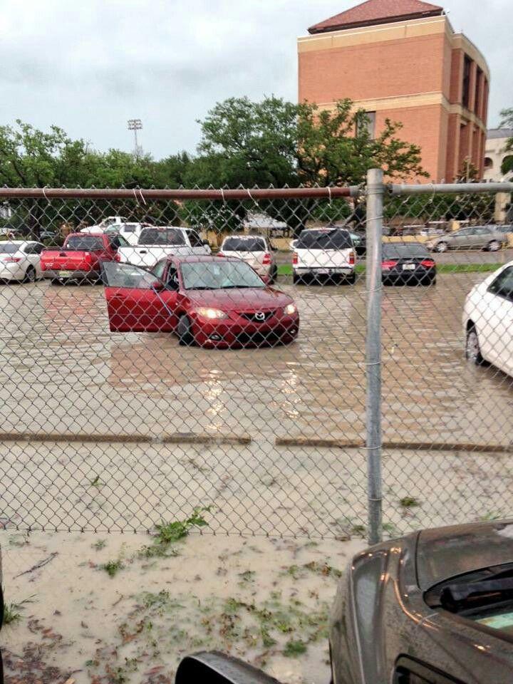
[[[452,182],[472,162],[482,176],[489,69],[442,7],[368,0],[299,38],[299,101],[322,108],[351,98],[373,133],[386,118],[422,148],[428,182]],[[425,182],[425,180],[423,180]]]

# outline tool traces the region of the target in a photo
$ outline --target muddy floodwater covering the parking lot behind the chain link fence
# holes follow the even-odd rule
[[[384,291],[385,496],[395,524],[415,524],[397,504],[413,489],[430,500],[415,515],[444,522],[448,505],[452,519],[465,506],[488,509],[491,489],[499,506],[509,486],[507,455],[486,450],[513,443],[513,380],[463,358],[462,305],[483,277],[439,274],[435,287]],[[199,503],[222,507],[227,531],[329,535],[364,519],[364,282],[279,286],[299,306],[299,340],[233,351],[110,333],[98,286],[2,287],[6,519],[145,529]]]

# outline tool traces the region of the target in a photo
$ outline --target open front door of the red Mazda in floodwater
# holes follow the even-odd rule
[[[130,264],[102,264],[110,330],[116,333],[171,332],[177,325],[177,289]]]

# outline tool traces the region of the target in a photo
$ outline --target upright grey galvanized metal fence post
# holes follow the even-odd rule
[[[381,241],[383,237],[383,171],[367,175],[367,335],[366,335],[366,447],[368,541],[382,539],[381,491]]]

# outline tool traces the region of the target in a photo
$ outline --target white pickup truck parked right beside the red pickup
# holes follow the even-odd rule
[[[157,261],[169,254],[187,256],[210,253],[208,242],[202,240],[196,230],[174,226],[145,228],[140,233],[137,245],[119,250],[122,264],[145,266],[147,269],[152,269]]]

